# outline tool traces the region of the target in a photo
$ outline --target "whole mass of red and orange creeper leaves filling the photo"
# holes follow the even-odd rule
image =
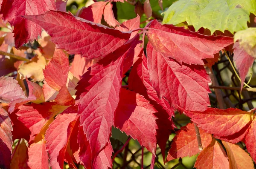
[[[158,144],[165,159],[166,141],[175,128],[175,109],[201,128],[205,149],[196,167],[253,168],[249,155],[233,144],[243,140],[256,160],[253,113],[208,107],[211,80],[204,63],[210,63],[214,54],[232,45],[232,37],[207,36],[161,25],[157,20],[140,29],[139,16],[120,24],[113,15],[111,1],[96,2],[73,16],[65,11],[66,2],[2,2],[0,14],[14,26],[16,48],[37,39],[44,29],[56,49],[42,71],[43,88],[26,78],[28,96],[17,80],[0,77],[1,168],[62,169],[64,161],[73,168],[76,163],[86,169],[111,168],[112,126],[137,139],[153,155]],[[150,9],[145,9],[149,13]],[[101,24],[102,15],[113,28]],[[146,54],[139,40],[141,34],[149,39]],[[77,54],[71,69],[62,49]],[[234,57],[242,83],[250,67],[242,65],[253,63],[252,57],[244,54],[235,43]],[[124,89],[122,78],[129,69]],[[192,126],[188,124],[177,132],[167,161],[199,152]],[[223,140],[227,154],[207,133]],[[21,138],[26,139],[28,147],[22,140],[12,152],[13,140]]]

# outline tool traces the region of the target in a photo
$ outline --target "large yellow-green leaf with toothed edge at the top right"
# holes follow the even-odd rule
[[[234,33],[247,29],[250,13],[256,14],[256,0],[179,0],[165,12],[163,23]]]

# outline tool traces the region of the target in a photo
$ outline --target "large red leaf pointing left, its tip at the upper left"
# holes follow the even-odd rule
[[[41,25],[52,37],[51,41],[57,44],[57,48],[65,49],[70,54],[82,54],[87,59],[112,53],[131,35],[130,32],[124,33],[87,20],[78,20],[79,18],[61,11],[49,11],[26,18]]]

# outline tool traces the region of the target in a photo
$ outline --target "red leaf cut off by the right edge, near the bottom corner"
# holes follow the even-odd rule
[[[250,156],[256,161],[256,120],[253,119],[250,129],[244,137],[244,143]]]

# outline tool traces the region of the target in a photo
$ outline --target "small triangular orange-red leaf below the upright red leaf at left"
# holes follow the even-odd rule
[[[59,105],[73,105],[75,104],[75,99],[70,95],[70,92],[67,89],[67,86],[62,86],[58,95],[55,98],[55,102]]]

